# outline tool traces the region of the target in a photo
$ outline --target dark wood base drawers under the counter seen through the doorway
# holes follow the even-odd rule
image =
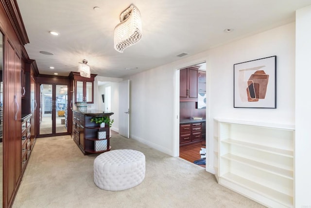
[[[202,126],[205,122],[192,122],[180,124],[179,146],[190,145],[202,141]]]

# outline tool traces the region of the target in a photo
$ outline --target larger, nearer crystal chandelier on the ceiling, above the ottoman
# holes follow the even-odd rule
[[[138,42],[141,38],[140,12],[133,4],[120,15],[120,23],[115,27],[114,46],[117,51],[123,50]]]

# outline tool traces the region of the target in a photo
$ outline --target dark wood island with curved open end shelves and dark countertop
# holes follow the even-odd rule
[[[77,111],[72,110],[72,138],[83,154],[101,153],[111,149],[109,145],[109,125],[100,127],[99,124],[91,122],[92,117],[107,116],[114,113],[104,113],[98,110]],[[104,137],[99,137],[99,134]]]

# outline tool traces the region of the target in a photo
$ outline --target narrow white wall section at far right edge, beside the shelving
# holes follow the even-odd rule
[[[296,11],[295,207],[311,208],[311,6]]]

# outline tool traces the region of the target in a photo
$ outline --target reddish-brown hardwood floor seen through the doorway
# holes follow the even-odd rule
[[[193,163],[195,160],[201,159],[201,155],[200,155],[201,148],[205,148],[205,141],[180,147],[179,157]],[[204,168],[206,167],[205,165],[199,165],[199,166],[204,167]]]

